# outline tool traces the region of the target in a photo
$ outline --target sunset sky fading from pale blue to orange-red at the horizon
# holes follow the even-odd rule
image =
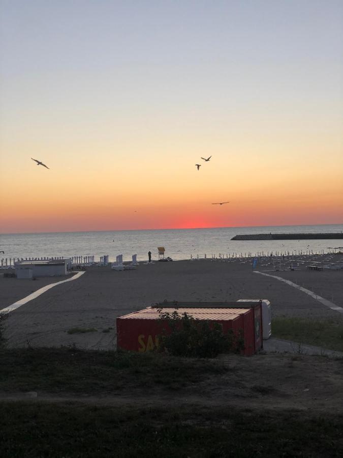
[[[340,0],[0,13],[1,232],[343,222]]]

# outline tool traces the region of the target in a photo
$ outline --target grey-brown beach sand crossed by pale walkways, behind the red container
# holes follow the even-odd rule
[[[341,258],[341,255],[330,256],[330,261]],[[256,270],[271,270],[266,273],[290,279],[342,307],[343,270],[308,271],[305,267],[308,261],[298,262],[299,271],[275,272],[273,260],[262,262]],[[289,264],[285,260],[281,267],[289,268]],[[45,277],[37,281],[1,277],[1,308],[62,279],[65,277]],[[136,270],[120,272],[110,267],[90,267],[77,280],[57,285],[13,311],[5,335],[10,347],[76,345],[113,349],[116,317],[165,299],[203,302],[268,299],[272,316],[342,317],[290,285],[253,272],[248,260],[155,262],[154,265],[141,263]],[[68,334],[67,331],[75,327],[97,331]]]

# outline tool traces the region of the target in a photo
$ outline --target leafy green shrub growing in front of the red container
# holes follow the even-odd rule
[[[220,353],[240,352],[244,348],[241,335],[237,338],[232,330],[224,334],[219,323],[200,321],[187,313],[181,315],[159,309],[159,320],[167,325],[159,336],[159,350],[173,356],[214,358]]]

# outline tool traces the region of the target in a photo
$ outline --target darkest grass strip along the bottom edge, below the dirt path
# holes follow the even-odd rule
[[[342,415],[235,408],[0,404],[2,458],[342,456]]]

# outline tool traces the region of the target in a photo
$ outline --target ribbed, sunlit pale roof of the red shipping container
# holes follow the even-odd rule
[[[189,316],[198,320],[210,321],[231,321],[238,318],[240,315],[250,313],[250,309],[246,308],[164,308],[163,313],[173,313],[177,311],[179,315],[187,313]],[[160,313],[157,308],[144,308],[133,313],[128,313],[120,319],[125,320],[157,320]]]

